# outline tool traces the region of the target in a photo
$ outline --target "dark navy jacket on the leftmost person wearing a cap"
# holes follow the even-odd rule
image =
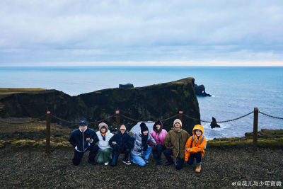
[[[93,142],[91,143],[87,141],[87,138],[90,140],[93,139]],[[88,144],[94,145],[96,142],[98,142],[98,136],[96,135],[96,132],[90,128],[86,128],[84,132],[81,132],[81,130],[77,129],[71,132],[69,142],[73,147],[76,147],[77,150],[85,151],[88,147]]]

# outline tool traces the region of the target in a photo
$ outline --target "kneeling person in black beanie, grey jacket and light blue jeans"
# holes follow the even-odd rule
[[[152,147],[156,146],[156,142],[151,134],[149,134],[149,128],[146,127],[145,123],[142,122],[141,130],[132,135],[132,139],[134,139],[134,148],[131,151],[131,160],[134,164],[138,164],[139,166],[145,166],[149,164],[149,156],[151,154]],[[152,145],[149,146],[149,141],[152,142]],[[142,158],[141,156],[144,155]]]

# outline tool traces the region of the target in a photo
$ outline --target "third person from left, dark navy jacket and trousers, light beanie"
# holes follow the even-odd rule
[[[127,165],[131,164],[131,161],[129,161],[128,158],[131,149],[134,147],[134,140],[127,134],[125,125],[120,125],[118,133],[109,140],[109,145],[113,149],[111,166],[117,165],[117,160],[120,154],[125,154],[123,163]]]

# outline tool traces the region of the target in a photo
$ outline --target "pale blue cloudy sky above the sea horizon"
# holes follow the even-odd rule
[[[0,1],[0,67],[283,66],[283,1]]]

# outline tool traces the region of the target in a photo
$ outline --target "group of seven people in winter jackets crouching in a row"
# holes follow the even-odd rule
[[[111,164],[111,166],[116,166],[118,157],[120,154],[124,154],[123,163],[129,165],[132,161],[139,166],[145,166],[149,164],[149,156],[152,151],[156,165],[161,164],[163,153],[167,160],[163,166],[175,164],[176,169],[181,169],[185,161],[192,165],[196,160],[195,171],[200,172],[202,156],[204,156],[207,144],[202,125],[195,125],[192,136],[182,129],[182,122],[179,119],[174,120],[173,129],[169,132],[163,130],[163,123],[159,120],[154,123],[150,133],[144,122],[140,127],[141,130],[132,136],[127,134],[125,125],[120,125],[117,134],[112,134],[108,130],[108,125],[101,122],[98,125],[98,132],[94,132],[88,128],[86,120],[81,120],[79,129],[71,132],[69,137],[69,142],[74,147],[73,164],[79,165],[83,154],[90,151],[88,163],[93,165]],[[96,145],[97,142],[98,145]],[[131,154],[130,160],[129,154]],[[175,157],[175,163],[172,156]]]

